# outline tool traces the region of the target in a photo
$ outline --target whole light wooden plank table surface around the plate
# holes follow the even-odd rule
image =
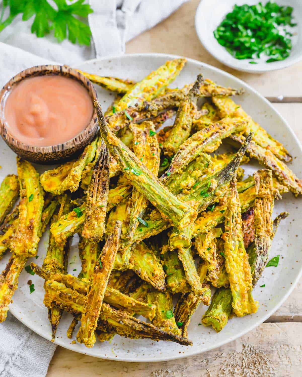
[[[199,0],[127,43],[126,53],[162,52],[193,58],[247,82],[274,102],[302,142],[302,62],[266,74],[247,74],[215,60],[199,42],[194,16]],[[47,377],[291,377],[302,375],[302,281],[265,323],[247,335],[212,351],[160,363],[100,360],[57,347]],[[300,374],[301,373],[301,374]]]

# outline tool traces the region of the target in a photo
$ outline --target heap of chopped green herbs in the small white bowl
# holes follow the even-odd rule
[[[293,8],[273,1],[265,5],[234,5],[214,30],[218,43],[235,59],[255,59],[267,56],[267,63],[284,60],[292,49]],[[249,61],[257,64],[256,61]]]

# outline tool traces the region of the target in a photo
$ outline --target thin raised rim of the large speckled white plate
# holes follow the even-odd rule
[[[127,57],[144,57],[144,58],[153,58],[153,57],[156,57],[156,58],[163,58],[163,59],[166,59],[166,60],[169,60],[169,59],[174,59],[174,58],[179,58],[179,55],[170,55],[170,54],[127,54],[127,55],[113,55],[113,56],[109,56],[109,57],[105,57],[105,58],[96,58],[96,59],[91,59],[91,60],[88,60],[86,62],[83,62],[81,64],[78,64],[77,65],[77,68],[78,69],[85,69],[85,65],[86,64],[90,64],[90,63],[101,63],[102,61],[108,61],[108,60],[114,60],[114,59],[123,59],[123,58],[127,58]],[[272,106],[272,104],[265,98],[263,97],[262,95],[260,95],[259,92],[257,92],[255,89],[253,89],[251,86],[249,86],[247,83],[245,83],[244,81],[238,79],[237,77],[231,75],[231,74],[228,74],[227,72],[224,72],[223,70],[221,69],[218,69],[216,67],[213,67],[211,66],[210,64],[206,64],[206,63],[203,63],[203,62],[200,62],[200,61],[197,61],[197,60],[194,60],[194,59],[190,59],[190,58],[186,58],[188,62],[191,62],[191,63],[194,63],[194,64],[197,64],[197,66],[200,66],[200,68],[202,67],[206,67],[207,69],[210,69],[212,70],[213,72],[217,72],[231,80],[233,80],[234,84],[235,85],[238,85],[238,87],[245,87],[245,90],[248,90],[250,92],[253,92],[257,97],[259,97],[262,101],[265,102],[265,104],[270,107],[271,110],[273,110],[273,112],[276,114],[276,116],[279,117],[279,119],[282,121],[284,127],[287,129],[288,132],[291,133],[291,135],[294,137],[296,143],[297,143],[297,146],[299,147],[299,152],[302,156],[302,146],[301,146],[301,143],[299,141],[299,139],[296,137],[296,135],[294,134],[293,130],[291,129],[291,127],[288,125],[287,121],[284,119],[284,117],[282,115],[280,115],[279,112],[277,112],[276,109],[274,109],[274,107]],[[179,353],[179,354],[176,354],[176,356],[169,356],[169,357],[166,357],[166,356],[162,356],[162,357],[157,357],[156,360],[154,359],[151,359],[151,358],[144,358],[142,360],[139,360],[139,358],[125,358],[125,357],[116,357],[114,355],[108,355],[108,354],[92,354],[91,352],[89,352],[89,349],[75,349],[72,344],[66,342],[66,340],[61,340],[61,339],[56,339],[55,340],[55,344],[59,345],[59,346],[62,346],[66,349],[70,349],[71,351],[75,351],[75,352],[79,352],[79,353],[82,353],[82,354],[85,354],[85,355],[89,355],[89,356],[94,356],[94,357],[97,357],[97,358],[100,358],[100,359],[108,359],[108,360],[117,360],[117,361],[125,361],[125,362],[161,362],[161,361],[168,361],[168,360],[177,360],[177,359],[183,359],[185,357],[189,357],[189,356],[194,356],[194,355],[197,355],[197,354],[200,354],[200,353],[203,353],[203,352],[206,352],[206,351],[210,351],[211,349],[215,349],[215,348],[218,348],[220,346],[223,346],[241,336],[243,336],[244,334],[247,334],[249,331],[253,330],[254,328],[256,328],[257,326],[259,326],[261,323],[265,322],[265,320],[267,320],[281,305],[282,303],[284,303],[284,301],[288,298],[288,296],[290,295],[290,293],[293,291],[294,287],[296,286],[297,282],[299,281],[299,279],[301,278],[302,276],[302,264],[300,265],[300,270],[299,270],[299,273],[297,274],[296,276],[296,279],[294,279],[294,281],[292,282],[292,284],[290,285],[290,287],[284,292],[284,295],[283,297],[276,303],[276,305],[273,306],[273,308],[269,311],[267,311],[267,313],[265,315],[263,315],[262,317],[260,317],[259,319],[256,319],[254,320],[253,324],[250,325],[250,326],[247,326],[246,328],[242,329],[242,331],[239,331],[238,333],[228,337],[228,339],[226,340],[222,340],[222,341],[218,341],[216,344],[214,344],[213,346],[209,346],[208,348],[206,349],[203,349],[202,351],[199,351],[199,350],[194,350],[192,352],[188,351],[188,352],[185,352],[185,354],[182,354],[182,353]],[[45,334],[43,334],[42,331],[39,330],[39,328],[35,327],[32,323],[28,323],[26,321],[24,321],[22,319],[22,314],[20,314],[17,310],[10,310],[10,313],[16,317],[18,320],[20,320],[20,322],[22,322],[25,326],[27,326],[28,328],[30,328],[32,331],[34,331],[35,333],[39,334],[40,336],[44,337],[45,339],[48,339],[50,340],[50,336],[47,336]],[[68,339],[68,338],[66,338]],[[69,340],[70,341],[70,340]],[[157,344],[160,344],[160,343],[157,343]],[[163,345],[166,345],[167,343],[166,342],[162,342]],[[83,346],[84,347],[84,346]],[[163,354],[165,353],[164,351],[164,346],[163,346]],[[92,348],[93,349],[93,348]]]

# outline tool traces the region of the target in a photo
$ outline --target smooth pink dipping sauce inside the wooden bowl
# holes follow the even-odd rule
[[[64,143],[91,121],[92,100],[76,80],[63,76],[27,78],[9,94],[4,109],[9,132],[32,146]]]

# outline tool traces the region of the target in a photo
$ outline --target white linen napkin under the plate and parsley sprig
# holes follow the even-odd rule
[[[31,21],[15,20],[0,33],[0,86],[21,70],[58,62],[74,66],[82,61],[120,55],[125,43],[152,28],[188,0],[90,0],[90,46],[68,40],[57,43],[52,35],[31,34]],[[0,323],[0,377],[44,377],[55,345],[35,334],[8,313]]]

